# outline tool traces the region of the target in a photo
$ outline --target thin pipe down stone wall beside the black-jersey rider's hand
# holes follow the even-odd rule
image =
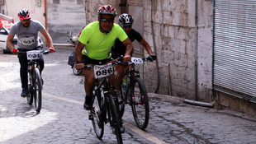
[[[154,53],[157,56],[157,51],[156,51],[156,46],[155,46],[155,39],[154,39],[154,23],[153,23],[153,0],[151,0],[151,29],[152,29],[152,37],[153,37],[153,44],[154,44]],[[159,90],[159,61],[158,58],[156,58],[155,60],[155,64],[156,64],[156,69],[157,69],[157,75],[158,75],[158,82],[157,82],[157,86],[156,89],[154,90],[154,93],[157,93],[157,91]]]

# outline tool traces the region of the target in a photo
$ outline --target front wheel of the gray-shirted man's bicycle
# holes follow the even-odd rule
[[[35,71],[33,71],[33,97],[35,100],[36,111],[40,112],[42,105],[42,82],[40,71],[37,67],[35,67]]]

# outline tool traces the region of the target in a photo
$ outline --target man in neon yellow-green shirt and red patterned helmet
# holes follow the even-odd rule
[[[117,15],[116,8],[111,5],[104,5],[97,10],[98,21],[90,23],[83,28],[75,47],[76,67],[84,67],[87,64],[105,64],[111,60],[111,47],[116,39],[126,45],[124,61],[130,61],[130,54],[134,47],[126,32],[121,26],[114,24]],[[83,49],[84,48],[84,49]],[[86,50],[86,53],[85,53]],[[83,70],[84,90],[86,92],[83,108],[92,109],[92,90],[95,85],[93,69]],[[114,85],[114,77],[111,79],[111,85]],[[121,127],[124,132],[124,128]]]

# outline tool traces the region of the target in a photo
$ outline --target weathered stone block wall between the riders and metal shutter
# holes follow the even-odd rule
[[[121,12],[121,1],[118,0],[88,0],[86,3],[88,22],[97,21],[95,12],[102,4],[109,3],[116,7],[118,14]],[[155,62],[145,63],[142,72],[148,92],[158,90],[159,94],[192,100],[196,99],[197,94],[197,100],[210,100],[212,5],[212,0],[198,0],[195,39],[196,0],[126,1],[126,12],[135,17],[133,27],[145,37],[158,56],[159,83]],[[154,39],[151,20],[154,23]],[[147,56],[136,43],[135,48]]]

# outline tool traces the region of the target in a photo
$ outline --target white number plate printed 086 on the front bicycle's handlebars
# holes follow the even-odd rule
[[[114,67],[110,64],[107,65],[97,65],[94,66],[94,77],[102,78],[102,77],[108,77],[114,72]]]

